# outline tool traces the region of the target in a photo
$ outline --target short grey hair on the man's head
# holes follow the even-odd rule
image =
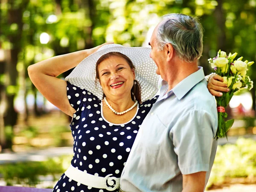
[[[203,27],[196,17],[164,15],[157,29],[157,49],[172,44],[177,56],[187,62],[198,60],[203,52]]]

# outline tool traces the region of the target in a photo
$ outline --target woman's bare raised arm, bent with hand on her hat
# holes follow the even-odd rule
[[[73,116],[76,110],[70,105],[67,98],[67,82],[58,79],[57,76],[76,67],[84,58],[105,44],[92,49],[58,55],[30,65],[28,67],[29,78],[49,102],[69,116]]]

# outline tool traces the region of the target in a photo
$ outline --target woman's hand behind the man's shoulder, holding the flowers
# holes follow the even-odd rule
[[[227,84],[223,83],[223,79],[219,75],[213,75],[208,82],[207,88],[213,96],[222,96],[221,92],[229,92]]]

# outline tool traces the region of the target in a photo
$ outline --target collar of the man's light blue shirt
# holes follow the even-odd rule
[[[189,92],[196,84],[204,79],[204,70],[203,67],[198,67],[198,71],[192,73],[191,75],[187,76],[185,79],[180,81],[172,90],[168,93],[168,84],[166,81],[162,81],[162,87],[160,91],[160,97],[158,100],[164,99],[172,95],[173,93],[177,97],[177,99],[182,99],[186,93]]]

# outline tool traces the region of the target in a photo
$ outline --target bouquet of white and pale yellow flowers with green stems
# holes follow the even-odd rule
[[[227,117],[225,108],[229,104],[233,94],[236,91],[247,88],[251,90],[253,88],[253,81],[250,80],[250,77],[246,75],[247,67],[251,66],[254,61],[248,62],[242,61],[243,57],[238,58],[233,61],[237,53],[229,54],[224,51],[219,50],[218,55],[215,58],[209,58],[209,64],[214,68],[215,73],[221,76],[224,80],[224,83],[227,84],[230,91],[223,93],[221,97],[216,98],[217,102],[217,111],[218,111],[218,129],[216,138],[227,137],[227,131],[231,128],[234,123],[234,119],[224,121],[224,118]]]

